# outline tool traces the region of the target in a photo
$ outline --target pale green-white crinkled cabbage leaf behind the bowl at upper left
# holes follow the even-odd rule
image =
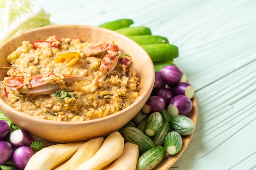
[[[1,0],[0,45],[24,31],[50,25],[49,17],[34,0]]]

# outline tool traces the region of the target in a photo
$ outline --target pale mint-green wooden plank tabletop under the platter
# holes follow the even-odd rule
[[[198,120],[172,170],[256,169],[255,0],[36,0],[56,24],[121,18],[178,46]]]

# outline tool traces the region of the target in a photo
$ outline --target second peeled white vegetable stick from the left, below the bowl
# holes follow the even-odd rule
[[[76,153],[67,162],[63,163],[54,170],[72,170],[77,168],[82,163],[90,159],[95,153],[97,153],[99,148],[101,148],[103,141],[103,137],[89,140],[85,144],[81,145]]]

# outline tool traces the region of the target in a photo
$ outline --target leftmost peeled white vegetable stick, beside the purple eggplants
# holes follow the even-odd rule
[[[72,157],[79,146],[84,143],[56,144],[43,148],[29,159],[24,170],[52,170],[61,162]]]

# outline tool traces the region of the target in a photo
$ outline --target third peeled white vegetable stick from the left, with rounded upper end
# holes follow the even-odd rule
[[[100,170],[122,155],[124,137],[115,131],[103,142],[98,152],[75,170]]]

